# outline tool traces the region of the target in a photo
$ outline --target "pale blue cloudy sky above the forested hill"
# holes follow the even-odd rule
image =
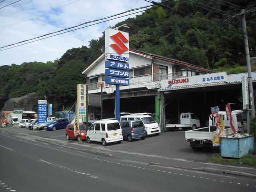
[[[16,1],[0,0],[0,47],[150,5],[144,0]],[[6,6],[11,3],[14,4]],[[102,32],[108,26],[114,26],[128,17],[134,16],[136,14],[14,48],[10,48],[12,46],[0,48],[0,66],[22,64],[23,62],[54,61],[68,49],[88,46],[88,42],[102,36]]]

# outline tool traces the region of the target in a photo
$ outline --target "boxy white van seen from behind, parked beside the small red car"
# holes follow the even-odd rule
[[[86,141],[102,142],[106,146],[110,142],[121,143],[122,129],[118,120],[100,120],[94,122],[87,130]]]

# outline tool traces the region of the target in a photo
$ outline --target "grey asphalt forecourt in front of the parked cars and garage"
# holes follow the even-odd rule
[[[29,136],[38,136],[40,138],[49,138],[54,140],[60,140],[63,142],[78,144],[77,140],[67,141],[65,138],[65,129],[47,131],[47,130],[28,130],[26,128],[1,128],[2,131],[16,132],[26,134]],[[128,154],[147,154],[149,156],[170,158],[176,160],[188,160],[194,162],[203,162],[207,158],[213,155],[211,150],[193,151],[189,146],[189,143],[185,140],[184,131],[167,131],[161,132],[159,136],[149,136],[145,140],[134,140],[128,142],[122,141],[121,144],[109,144],[108,146],[102,146],[101,143],[93,142],[88,144],[86,142],[80,143],[84,147],[98,148],[102,150],[109,150],[110,152],[121,152]]]

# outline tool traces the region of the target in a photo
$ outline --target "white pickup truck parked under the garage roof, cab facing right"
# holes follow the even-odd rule
[[[192,128],[196,129],[200,127],[200,120],[196,117],[194,113],[181,113],[180,114],[180,124],[166,124],[166,129],[175,129],[182,130],[182,128]]]

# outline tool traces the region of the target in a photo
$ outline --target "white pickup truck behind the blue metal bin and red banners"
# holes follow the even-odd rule
[[[220,111],[219,115],[222,114],[223,123],[224,123],[224,132],[223,136],[230,135],[233,132],[230,127],[230,122],[227,118],[225,111]],[[234,128],[237,132],[244,132],[244,121],[242,115],[238,111],[232,111],[232,119]],[[209,126],[198,128],[194,130],[185,131],[185,139],[187,142],[190,142],[190,146],[194,151],[200,150],[202,148],[212,148],[212,142],[214,134],[216,131],[216,120],[212,117],[212,114],[209,116]]]

